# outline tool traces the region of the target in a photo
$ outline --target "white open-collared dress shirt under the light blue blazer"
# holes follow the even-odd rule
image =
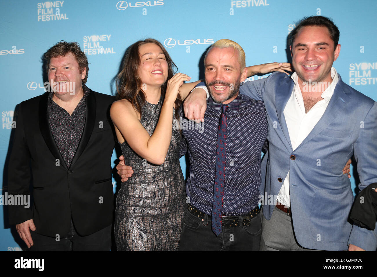
[[[300,86],[297,84],[297,73],[294,72],[291,78],[294,81],[294,87],[287,105],[284,108],[284,117],[285,121],[287,122],[292,148],[295,150],[309,135],[311,130],[313,130],[314,126],[322,117],[331,96],[334,94],[334,89],[338,83],[339,77],[336,69],[331,67],[331,78],[333,78],[333,81],[327,87],[327,89],[322,92],[322,100],[318,101],[307,113],[305,113],[305,106]],[[310,86],[307,87],[310,88]],[[320,85],[318,87],[320,88]],[[284,204],[285,207],[290,207],[289,171],[287,177],[284,179],[282,187],[280,188],[279,194],[277,195],[277,201]]]

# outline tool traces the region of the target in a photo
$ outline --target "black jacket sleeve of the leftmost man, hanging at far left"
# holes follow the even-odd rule
[[[22,114],[22,103],[19,105],[16,125],[14,128],[14,138],[10,142],[10,155],[8,164],[8,197],[9,195],[30,195],[31,156],[28,145],[26,143],[25,129]],[[14,197],[16,198],[16,197]],[[31,197],[29,197],[30,199]],[[9,223],[19,224],[32,219],[32,207],[24,203],[15,203],[16,205],[9,205]]]

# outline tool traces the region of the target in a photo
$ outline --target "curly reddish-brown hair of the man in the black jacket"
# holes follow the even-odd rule
[[[75,56],[76,61],[78,63],[78,69],[80,72],[83,72],[86,68],[85,78],[83,83],[85,84],[88,80],[88,72],[89,72],[89,63],[88,58],[86,57],[85,53],[81,51],[80,45],[77,42],[66,42],[64,40],[59,41],[57,44],[52,46],[46,53],[44,53],[44,59],[46,62],[46,72],[48,74],[50,60],[51,58],[56,58],[60,56],[65,56],[68,53],[72,53]]]

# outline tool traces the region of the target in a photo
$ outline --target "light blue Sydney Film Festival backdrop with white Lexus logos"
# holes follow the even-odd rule
[[[288,61],[287,35],[295,22],[303,16],[323,15],[333,18],[340,29],[337,72],[343,81],[377,100],[376,14],[375,0],[2,1],[0,167],[5,166],[14,108],[44,92],[41,56],[60,40],[77,41],[87,53],[87,86],[113,94],[112,79],[124,51],[137,40],[161,41],[179,71],[197,80],[204,77],[199,60],[214,41],[238,42],[247,65]],[[183,158],[181,166],[185,173]],[[351,182],[355,186],[353,176]],[[3,182],[0,194],[6,189]],[[24,245],[15,241],[18,234],[12,234],[4,207],[0,205],[0,251],[21,250]]]

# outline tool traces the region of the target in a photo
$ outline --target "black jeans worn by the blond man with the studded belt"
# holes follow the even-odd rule
[[[186,210],[178,251],[259,251],[261,216],[251,219],[250,226],[222,227],[216,237],[208,215],[202,221]]]

